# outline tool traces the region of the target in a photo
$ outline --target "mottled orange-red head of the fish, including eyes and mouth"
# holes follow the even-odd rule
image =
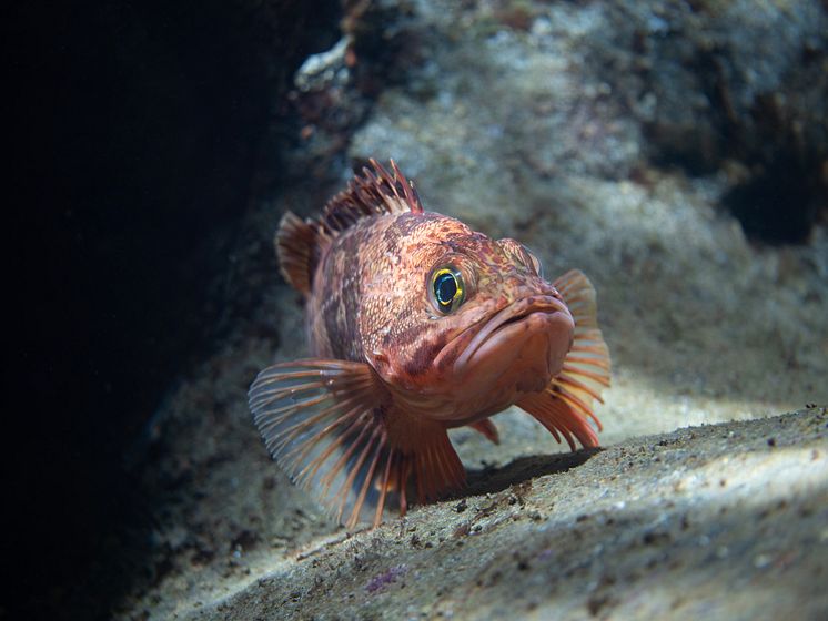
[[[422,220],[390,250],[392,281],[380,281],[383,301],[363,314],[378,319],[363,330],[366,359],[408,409],[460,426],[546,388],[574,320],[521,243]]]

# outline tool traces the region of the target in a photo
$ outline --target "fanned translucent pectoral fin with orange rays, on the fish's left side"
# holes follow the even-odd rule
[[[371,367],[305,359],[259,374],[249,401],[267,450],[297,485],[353,528],[382,521],[398,468],[376,409],[387,399]]]

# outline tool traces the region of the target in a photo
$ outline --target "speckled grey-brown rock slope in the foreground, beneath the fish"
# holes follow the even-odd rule
[[[824,407],[521,460],[460,505],[260,558],[221,597],[193,589],[151,618],[828,613]]]

